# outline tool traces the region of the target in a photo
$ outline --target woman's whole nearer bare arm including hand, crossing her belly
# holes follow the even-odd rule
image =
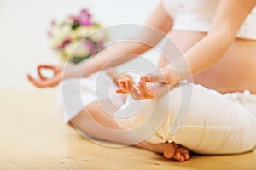
[[[220,0],[206,37],[195,43],[182,56],[172,59],[171,65],[141,77],[138,89],[124,85],[118,92],[131,94],[133,99],[159,98],[181,80],[206,71],[228,51],[255,5],[256,0]],[[146,82],[154,84],[147,87]]]

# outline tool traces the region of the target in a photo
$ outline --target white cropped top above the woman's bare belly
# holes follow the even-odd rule
[[[163,0],[166,13],[174,20],[172,30],[210,30],[219,0]],[[234,16],[236,17],[236,16]],[[236,37],[256,40],[256,7],[242,24]]]

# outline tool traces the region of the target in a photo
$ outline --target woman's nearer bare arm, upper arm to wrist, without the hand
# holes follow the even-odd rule
[[[207,36],[174,61],[178,77],[185,79],[205,71],[224,56],[255,4],[255,0],[221,0]]]

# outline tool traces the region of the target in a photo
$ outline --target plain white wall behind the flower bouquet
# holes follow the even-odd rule
[[[89,7],[106,26],[143,24],[157,0],[0,0],[0,88],[26,87],[39,63],[58,63],[49,47],[52,19]]]

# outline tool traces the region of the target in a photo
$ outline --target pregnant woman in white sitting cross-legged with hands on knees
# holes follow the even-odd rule
[[[154,9],[146,25],[171,37],[183,52],[187,66],[179,62],[180,59],[171,65],[165,56],[161,56],[160,71],[142,76],[136,85],[130,77],[118,80],[120,88],[114,87],[117,92],[130,94],[133,99],[147,99],[142,101],[145,105],[150,99],[163,99],[166,95],[172,103],[166,121],[149,139],[137,144],[138,147],[177,161],[188,160],[189,150],[201,154],[237,154],[255,148],[255,5],[256,0],[163,0]],[[155,45],[161,40],[147,31],[143,31],[143,37]],[[63,77],[63,66],[39,65],[40,78],[35,80],[28,76],[28,80],[40,88],[55,86],[63,80],[67,122],[95,138],[131,144],[136,138],[134,134],[109,135],[108,130],[102,128],[126,128],[124,122],[116,122],[99,106],[100,103],[115,103],[112,111],[118,111],[117,105],[122,105],[123,96],[111,92],[112,102],[111,99],[97,101],[93,73],[100,71],[109,60],[119,58],[108,67],[120,65],[150,48],[138,43],[118,43],[89,61],[66,68]],[[86,70],[83,70],[85,64]],[[189,71],[183,70],[187,67]],[[44,77],[40,72],[42,68],[55,71],[55,77]],[[79,77],[83,77],[79,92],[84,105],[78,105],[74,90],[68,90],[78,84]],[[179,83],[185,79],[188,82]],[[111,81],[111,77],[106,81]],[[186,88],[192,89],[193,94],[188,116],[182,127],[171,135],[172,117],[176,116],[178,108],[176,101],[182,98],[180,90]]]

